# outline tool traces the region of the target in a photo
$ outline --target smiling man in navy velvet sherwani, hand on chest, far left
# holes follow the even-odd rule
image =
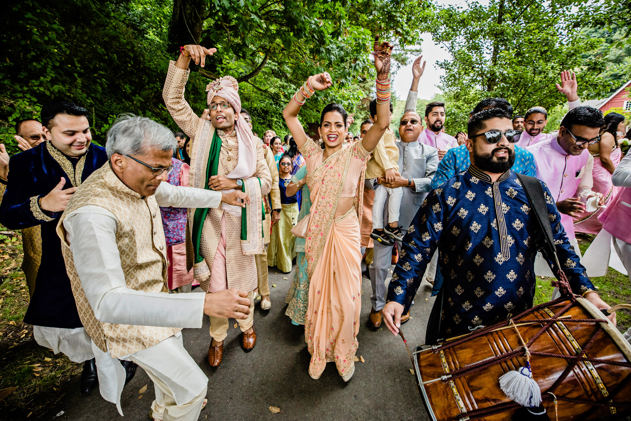
[[[107,162],[105,148],[91,144],[87,115],[88,110],[68,101],[42,107],[42,124],[50,140],[11,157],[0,205],[0,222],[5,227],[41,227],[42,260],[24,322],[33,324],[38,344],[63,352],[74,362],[85,362],[82,392],[97,384],[97,372],[56,227],[76,187]]]

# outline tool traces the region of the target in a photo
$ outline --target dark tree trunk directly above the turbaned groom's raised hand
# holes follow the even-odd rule
[[[169,52],[178,52],[182,45],[199,44],[206,16],[205,0],[174,0],[168,30]]]

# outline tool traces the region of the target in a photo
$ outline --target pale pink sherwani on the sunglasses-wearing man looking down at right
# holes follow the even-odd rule
[[[529,146],[537,165],[537,178],[548,185],[555,202],[577,196],[593,196],[594,158],[585,149],[581,155],[567,155],[553,137]],[[561,223],[569,240],[575,238],[572,216],[561,214]]]

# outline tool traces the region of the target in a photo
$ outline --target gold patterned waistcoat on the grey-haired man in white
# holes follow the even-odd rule
[[[116,358],[149,348],[179,332],[180,328],[102,323],[96,319],[74,268],[73,254],[66,241],[63,225],[69,213],[86,205],[109,210],[118,220],[116,244],[127,288],[165,294],[168,290],[165,284],[167,245],[156,199],[153,196],[141,196],[125,186],[107,162],[74,192],[57,225],[74,300],[88,335],[98,348],[103,352],[109,348],[112,358]]]

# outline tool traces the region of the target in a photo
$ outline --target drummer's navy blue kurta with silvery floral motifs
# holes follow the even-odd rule
[[[560,223],[550,190],[541,182],[557,254],[576,294],[593,290]],[[468,333],[533,306],[534,258],[541,249],[553,272],[553,256],[542,248],[538,223],[512,170],[497,182],[475,167],[434,189],[403,239],[387,300],[405,311],[416,294],[433,251],[439,249],[443,312],[440,335]],[[440,336],[445,337],[445,336]]]

